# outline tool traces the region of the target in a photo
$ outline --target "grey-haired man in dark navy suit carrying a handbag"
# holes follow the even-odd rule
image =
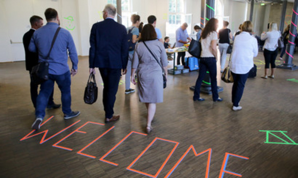
[[[95,67],[99,68],[104,84],[103,106],[105,122],[119,120],[114,116],[116,93],[122,74],[126,74],[128,61],[128,37],[126,28],[115,22],[115,6],[108,4],[103,10],[104,21],[93,24],[90,34],[89,68],[90,74],[95,74]]]

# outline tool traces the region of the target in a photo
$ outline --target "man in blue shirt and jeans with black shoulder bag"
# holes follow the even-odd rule
[[[36,120],[32,125],[32,128],[35,130],[40,128],[40,124],[43,121],[47,101],[54,89],[55,81],[61,91],[64,119],[70,119],[80,114],[79,111],[74,112],[70,108],[70,74],[74,76],[78,72],[78,55],[75,49],[75,43],[70,32],[61,28],[52,51],[49,54],[49,58],[46,59],[56,30],[59,28],[60,20],[57,11],[52,8],[48,8],[44,12],[44,15],[47,19],[47,24],[34,32],[29,45],[29,51],[38,52],[39,62],[47,60],[49,63],[49,79],[41,84],[36,101]],[[67,51],[72,62],[71,72],[67,64]]]

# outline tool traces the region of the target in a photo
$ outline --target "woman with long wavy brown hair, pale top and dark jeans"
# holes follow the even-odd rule
[[[210,74],[211,79],[211,91],[212,91],[212,99],[214,102],[222,101],[223,99],[219,98],[217,92],[217,79],[216,79],[216,58],[217,58],[217,30],[218,28],[218,20],[210,19],[203,32],[201,34],[201,58],[200,58],[200,70],[199,76],[196,80],[196,87],[193,95],[193,100],[196,101],[204,101],[204,98],[200,97],[200,88],[202,81],[205,77],[207,70]]]

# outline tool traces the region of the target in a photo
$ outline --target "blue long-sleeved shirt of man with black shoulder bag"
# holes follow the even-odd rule
[[[49,22],[34,32],[29,44],[29,51],[38,52],[39,62],[46,60],[58,27],[57,23]],[[69,31],[61,28],[47,60],[49,62],[49,74],[61,75],[69,71],[67,50],[72,68],[77,70],[79,61],[74,40]]]

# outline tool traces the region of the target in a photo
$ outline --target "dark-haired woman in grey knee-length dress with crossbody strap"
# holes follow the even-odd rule
[[[155,115],[156,103],[163,102],[161,66],[164,68],[167,77],[168,61],[165,47],[156,39],[154,27],[151,24],[145,25],[142,30],[141,42],[136,45],[134,50],[131,72],[131,82],[136,84],[134,76],[136,70],[138,70],[138,95],[140,102],[145,103],[147,108],[147,133],[152,130],[151,122]],[[159,63],[157,63],[145,44]]]

